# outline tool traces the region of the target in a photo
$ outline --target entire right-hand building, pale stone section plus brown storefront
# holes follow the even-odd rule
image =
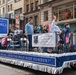
[[[56,15],[59,26],[69,23],[71,30],[76,30],[76,0],[41,0],[41,24],[51,24],[52,16]],[[69,12],[70,17],[65,19],[64,13]]]

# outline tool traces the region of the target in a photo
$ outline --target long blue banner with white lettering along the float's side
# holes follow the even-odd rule
[[[47,66],[56,66],[56,58],[55,57],[44,57],[39,55],[30,55],[30,54],[21,54],[21,53],[13,53],[13,52],[0,52],[0,57],[4,57],[6,59],[14,59],[23,61],[23,62],[31,62],[32,64],[40,64]]]

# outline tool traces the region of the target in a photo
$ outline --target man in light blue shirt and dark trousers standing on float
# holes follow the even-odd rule
[[[33,27],[33,19],[30,18],[29,22],[25,25],[25,34],[27,35],[29,41],[29,51],[32,50],[32,34],[34,34],[34,27]]]

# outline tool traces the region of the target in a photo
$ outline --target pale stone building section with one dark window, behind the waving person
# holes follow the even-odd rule
[[[40,2],[40,23],[41,25],[47,25],[51,23],[52,20],[52,7],[51,7],[52,0],[41,0]]]

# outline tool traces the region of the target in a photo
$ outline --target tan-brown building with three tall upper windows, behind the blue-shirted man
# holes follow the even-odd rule
[[[33,18],[34,25],[39,25],[40,23],[40,0],[25,0],[25,23],[28,22],[29,18]]]

